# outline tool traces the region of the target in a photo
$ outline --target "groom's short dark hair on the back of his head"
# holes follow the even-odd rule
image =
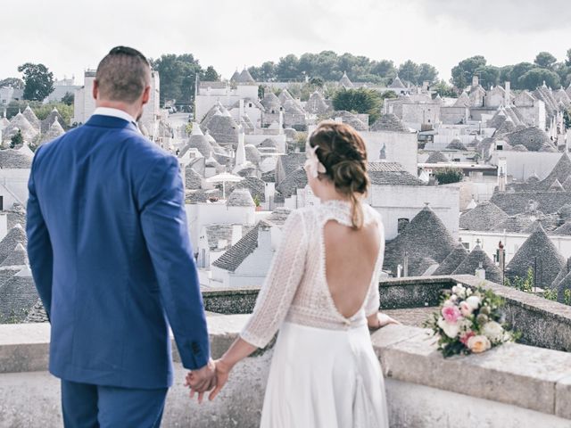
[[[101,97],[133,103],[150,85],[151,66],[143,53],[117,46],[99,62],[95,79]]]

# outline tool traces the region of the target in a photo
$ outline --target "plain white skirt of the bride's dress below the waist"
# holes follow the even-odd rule
[[[347,330],[285,322],[261,428],[388,428],[385,381],[366,319]]]

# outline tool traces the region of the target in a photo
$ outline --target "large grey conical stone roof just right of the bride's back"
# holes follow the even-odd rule
[[[409,275],[421,259],[430,258],[440,263],[454,250],[454,240],[446,226],[429,207],[420,210],[415,218],[393,241],[386,243],[384,268],[396,273],[397,265],[409,258]]]

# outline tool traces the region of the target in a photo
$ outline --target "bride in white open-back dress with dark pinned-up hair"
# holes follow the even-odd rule
[[[368,189],[367,152],[351,127],[322,122],[305,163],[316,207],[294,210],[240,337],[216,361],[218,384],[274,334],[262,428],[388,427],[385,383],[369,328],[378,312],[385,236]]]

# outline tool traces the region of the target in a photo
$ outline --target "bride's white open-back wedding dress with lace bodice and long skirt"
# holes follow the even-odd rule
[[[380,215],[363,205],[364,224],[377,222],[380,248],[361,309],[343,317],[327,286],[324,228],[352,226],[351,204],[330,201],[295,210],[241,337],[263,348],[279,329],[269,371],[262,428],[388,427],[385,383],[368,332],[379,308],[385,251]]]

